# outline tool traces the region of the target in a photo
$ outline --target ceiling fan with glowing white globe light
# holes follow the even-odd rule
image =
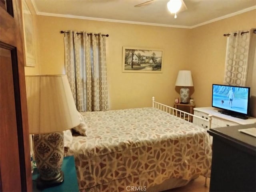
[[[134,7],[140,7],[140,6],[148,5],[148,4],[150,4],[150,3],[154,2],[154,1],[157,1],[157,0],[148,0],[146,2],[137,4]],[[182,12],[182,11],[188,9],[183,0],[170,0],[167,3],[167,7],[168,7],[168,10],[171,13],[175,13],[174,18],[177,18],[177,15],[176,15],[177,12]]]

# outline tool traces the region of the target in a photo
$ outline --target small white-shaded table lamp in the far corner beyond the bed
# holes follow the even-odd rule
[[[175,86],[181,86],[180,88],[180,100],[181,104],[188,104],[189,88],[194,86],[192,80],[191,71],[182,70],[179,71]]]

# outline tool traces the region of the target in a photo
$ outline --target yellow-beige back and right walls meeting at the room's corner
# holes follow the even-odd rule
[[[110,35],[106,40],[110,109],[150,106],[152,96],[172,105],[179,96],[179,88],[175,88],[179,70],[192,71],[196,106],[210,106],[212,84],[222,84],[224,78],[223,34],[255,28],[255,14],[253,10],[194,29],[37,16],[40,73],[65,73],[60,30],[101,32]],[[122,46],[164,50],[163,73],[122,73]]]

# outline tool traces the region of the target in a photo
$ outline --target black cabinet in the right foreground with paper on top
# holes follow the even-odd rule
[[[213,128],[210,191],[256,191],[256,138],[238,129],[256,124]]]

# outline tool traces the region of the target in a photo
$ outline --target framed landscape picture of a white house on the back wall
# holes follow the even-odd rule
[[[162,73],[163,50],[123,47],[122,72]]]

